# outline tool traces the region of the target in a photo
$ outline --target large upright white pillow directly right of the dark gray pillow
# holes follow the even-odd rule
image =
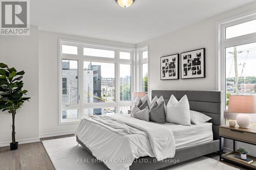
[[[180,101],[177,101],[174,95],[166,106],[165,122],[190,126],[190,111],[187,95],[184,95]]]

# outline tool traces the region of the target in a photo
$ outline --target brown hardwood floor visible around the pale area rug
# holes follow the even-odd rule
[[[41,138],[40,140],[50,140],[63,137],[70,137],[74,135],[64,135],[49,138]],[[208,158],[219,160],[219,156],[216,153],[206,155]],[[222,161],[230,166],[237,167],[241,170],[246,168],[234,165],[226,161]],[[34,170],[34,169],[49,169],[54,170],[54,166],[47,155],[44,146],[41,142],[20,144],[18,150],[10,151],[9,147],[0,148],[0,170]]]

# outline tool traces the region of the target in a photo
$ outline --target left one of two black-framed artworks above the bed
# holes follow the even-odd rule
[[[160,58],[161,80],[179,79],[179,54]]]

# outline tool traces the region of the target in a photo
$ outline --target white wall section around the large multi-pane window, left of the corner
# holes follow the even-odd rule
[[[135,44],[39,31],[39,134],[74,131],[78,123],[58,125],[58,38],[135,48]],[[72,133],[72,132],[71,132]]]

